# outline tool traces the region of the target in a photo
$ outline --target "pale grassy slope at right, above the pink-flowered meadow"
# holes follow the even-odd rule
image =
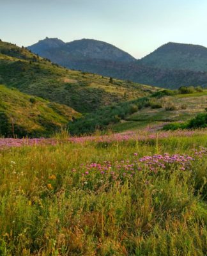
[[[151,124],[164,122],[186,122],[197,114],[205,112],[207,107],[206,90],[201,93],[179,94],[155,98],[155,102],[162,105],[162,108],[142,108],[128,115],[125,122],[111,125],[112,131],[126,131],[128,127],[139,129]],[[173,111],[166,111],[165,104],[171,102]]]

